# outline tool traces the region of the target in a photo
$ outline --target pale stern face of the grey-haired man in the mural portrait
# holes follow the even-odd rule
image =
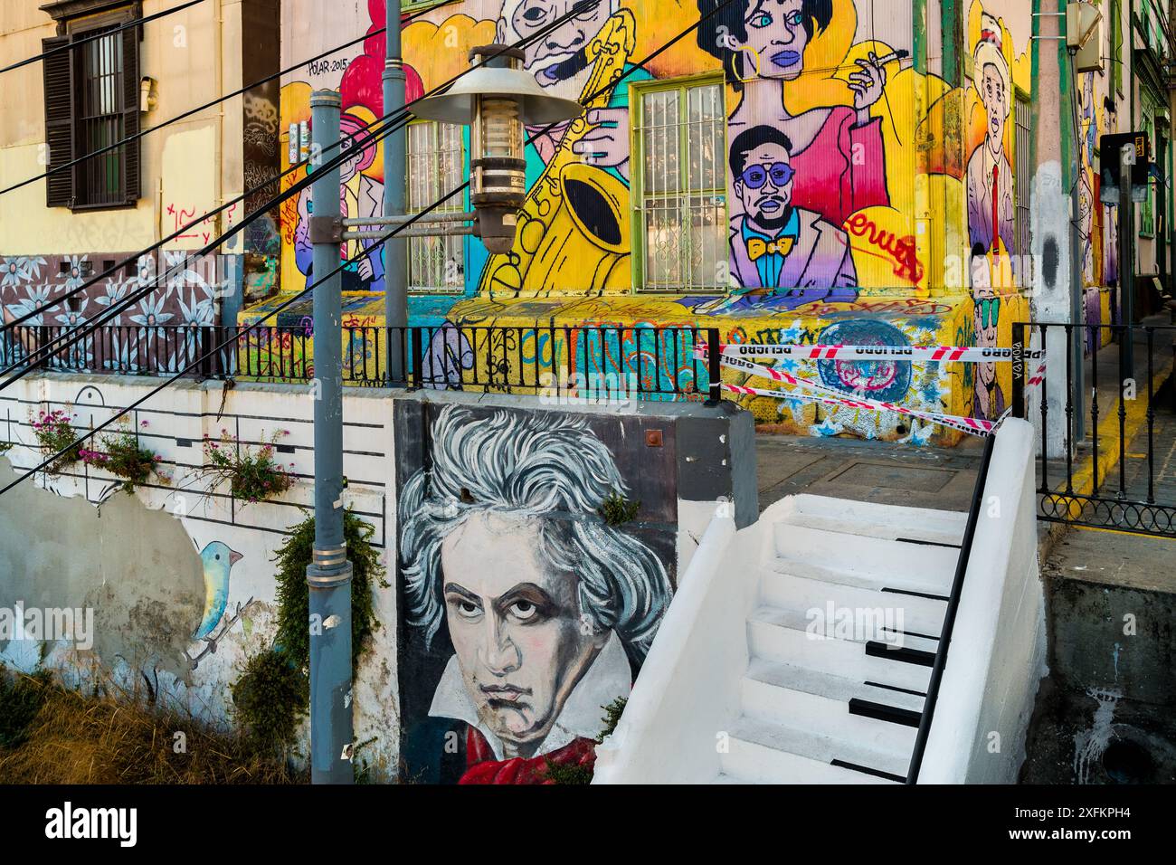
[[[449,637],[479,720],[530,757],[608,639],[581,616],[574,574],[540,564],[537,520],[479,513],[441,545]]]

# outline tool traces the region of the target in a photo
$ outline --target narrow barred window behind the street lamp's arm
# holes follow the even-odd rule
[[[432,120],[408,126],[409,213],[416,213],[461,186],[466,165],[462,129],[454,124]],[[460,213],[461,195],[454,195],[433,213]],[[461,292],[466,287],[463,238],[432,237],[408,239],[408,288],[414,292]]]

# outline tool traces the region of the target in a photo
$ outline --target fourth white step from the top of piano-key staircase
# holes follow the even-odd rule
[[[927,692],[931,668],[893,657],[867,654],[869,640],[817,639],[804,630],[803,617],[770,605],[756,607],[748,617],[748,644],[751,656],[780,664],[841,676],[862,681]],[[906,637],[903,646],[934,652],[937,643]]]

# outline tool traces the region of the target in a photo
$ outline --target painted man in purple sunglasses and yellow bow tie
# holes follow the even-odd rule
[[[791,149],[788,137],[770,126],[754,126],[731,144],[731,188],[743,209],[730,225],[731,273],[746,288],[790,290],[795,302],[784,308],[854,300],[857,271],[846,233],[793,205]],[[773,308],[780,308],[779,298]]]

